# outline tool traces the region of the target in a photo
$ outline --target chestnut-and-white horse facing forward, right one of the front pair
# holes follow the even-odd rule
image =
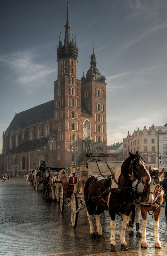
[[[152,168],[149,166],[149,173],[151,176],[151,183],[148,186],[144,186],[143,184],[136,184],[137,182],[133,182],[133,186],[137,190],[136,197],[140,202],[136,207],[136,236],[141,236],[141,248],[147,248],[147,240],[146,240],[146,228],[147,228],[147,212],[153,212],[154,214],[154,237],[155,237],[155,248],[161,248],[161,243],[159,240],[159,215],[162,209],[163,203],[163,189],[161,187],[161,177],[164,173],[164,168],[160,172],[158,168]],[[141,233],[140,229],[140,212],[142,216],[142,228],[143,233]],[[129,235],[133,235],[133,228],[131,225],[131,214],[128,217],[129,221]]]

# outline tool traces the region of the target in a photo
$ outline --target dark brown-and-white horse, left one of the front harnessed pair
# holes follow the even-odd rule
[[[100,216],[104,210],[108,210],[111,228],[111,251],[117,250],[115,242],[116,213],[121,213],[122,215],[120,234],[121,250],[128,250],[125,241],[125,230],[127,218],[131,212],[131,204],[133,202],[133,177],[141,180],[145,185],[149,185],[151,181],[150,174],[138,151],[136,154],[132,154],[131,152],[129,152],[129,154],[130,156],[124,160],[120,168],[110,177],[107,178],[103,175],[93,175],[89,177],[84,184],[84,200],[87,208],[91,237],[100,237],[102,235]],[[95,214],[96,218],[96,235],[92,222],[93,214]]]

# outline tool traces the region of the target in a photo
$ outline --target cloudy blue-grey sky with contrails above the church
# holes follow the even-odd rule
[[[107,83],[107,145],[167,123],[167,1],[69,0],[78,78],[91,54]],[[66,0],[0,0],[0,153],[15,112],[54,98]]]

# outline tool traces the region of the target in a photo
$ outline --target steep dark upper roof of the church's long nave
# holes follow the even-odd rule
[[[6,132],[53,119],[53,102],[54,100],[51,100],[16,114]]]

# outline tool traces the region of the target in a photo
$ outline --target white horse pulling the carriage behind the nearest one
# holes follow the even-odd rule
[[[69,172],[69,168],[66,169],[62,169],[58,174],[51,174],[49,176],[49,185],[51,187],[52,190],[52,200],[56,201],[59,204],[60,200],[59,200],[59,188],[61,187],[61,177],[66,177],[68,175]]]

